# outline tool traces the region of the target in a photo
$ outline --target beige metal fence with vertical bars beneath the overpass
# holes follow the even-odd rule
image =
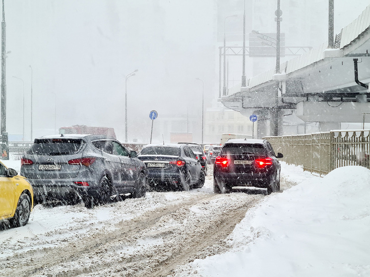
[[[370,169],[370,130],[335,130],[305,135],[264,137],[282,161],[304,170],[327,174],[341,166]]]

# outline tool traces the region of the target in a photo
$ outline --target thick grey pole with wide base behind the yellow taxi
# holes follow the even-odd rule
[[[1,21],[1,156],[3,160],[9,160],[8,151],[8,133],[6,132],[6,23],[4,0],[2,0],[2,21]]]

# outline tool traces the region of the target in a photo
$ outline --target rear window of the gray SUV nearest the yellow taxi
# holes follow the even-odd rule
[[[84,142],[81,139],[36,139],[27,154],[59,156],[77,153]]]

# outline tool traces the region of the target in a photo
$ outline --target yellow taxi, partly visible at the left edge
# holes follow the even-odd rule
[[[27,224],[33,208],[33,190],[28,180],[0,162],[0,221],[11,227]]]

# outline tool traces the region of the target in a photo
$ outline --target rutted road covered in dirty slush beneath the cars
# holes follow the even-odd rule
[[[26,226],[0,231],[0,276],[167,276],[224,252],[224,239],[264,197],[214,194],[210,167],[204,187],[189,192],[93,210],[37,205]]]

